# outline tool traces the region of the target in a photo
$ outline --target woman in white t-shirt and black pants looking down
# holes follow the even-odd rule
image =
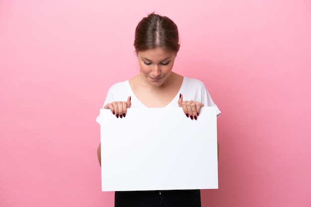
[[[155,13],[143,18],[136,27],[134,47],[140,73],[111,86],[103,108],[124,118],[130,107],[182,107],[196,120],[201,107],[216,106],[201,81],[172,72],[180,45],[171,19]],[[100,161],[100,145],[97,154]],[[116,192],[115,207],[201,207],[200,190]]]

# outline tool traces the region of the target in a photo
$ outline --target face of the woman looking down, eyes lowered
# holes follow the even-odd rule
[[[162,48],[140,51],[137,53],[141,75],[146,82],[159,87],[168,80],[172,71],[176,52],[168,52]]]

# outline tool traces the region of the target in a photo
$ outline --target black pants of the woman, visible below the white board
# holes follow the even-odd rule
[[[115,192],[115,207],[201,207],[200,190]]]

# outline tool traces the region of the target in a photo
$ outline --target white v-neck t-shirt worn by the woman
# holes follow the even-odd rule
[[[183,77],[183,81],[178,93],[176,94],[175,98],[165,107],[178,107],[179,94],[182,94],[183,101],[193,100],[195,102],[203,103],[204,106],[217,107],[204,83],[198,79]],[[136,98],[128,80],[116,83],[109,88],[104,105],[118,101],[126,102],[129,96],[131,96],[131,108],[147,107]],[[217,117],[220,115],[220,113],[221,111],[217,107]],[[99,117],[97,116],[96,121],[98,122],[98,120]]]

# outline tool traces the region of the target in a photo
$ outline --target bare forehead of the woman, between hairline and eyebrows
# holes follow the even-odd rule
[[[147,58],[149,60],[161,60],[168,57],[175,57],[176,52],[167,51],[162,48],[155,48],[145,51],[139,51],[137,55],[141,58]]]

